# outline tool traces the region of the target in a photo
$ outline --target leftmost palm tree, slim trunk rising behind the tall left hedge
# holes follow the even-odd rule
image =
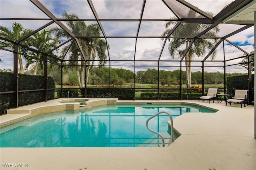
[[[22,37],[25,37],[32,31],[33,31],[32,29],[24,29],[20,23],[16,23],[16,22],[12,23],[12,29],[9,29],[8,27],[0,25],[1,37],[4,37],[4,38],[14,41],[14,42],[21,39]],[[0,47],[1,48],[10,47],[12,50],[14,50],[13,44],[9,43],[9,42],[1,41]],[[21,50],[21,47],[18,47],[18,60],[19,60],[19,64],[20,64],[20,73],[23,74],[24,69],[23,69],[23,64],[22,64],[22,57],[19,54],[20,50]]]

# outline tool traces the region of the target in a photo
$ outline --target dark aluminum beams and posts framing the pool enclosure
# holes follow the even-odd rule
[[[48,70],[47,70],[47,63],[48,63],[48,58],[50,57],[54,57],[54,56],[50,56],[49,53],[54,51],[55,49],[58,49],[59,47],[62,47],[63,45],[65,45],[66,43],[72,41],[72,43],[76,43],[80,49],[80,53],[82,55],[82,59],[85,61],[85,63],[88,62],[88,60],[86,60],[86,56],[84,55],[83,51],[82,51],[82,47],[78,41],[79,38],[104,38],[106,43],[108,44],[108,39],[111,39],[111,38],[134,38],[136,41],[135,41],[135,49],[134,49],[134,58],[131,59],[130,61],[134,63],[134,90],[136,89],[135,88],[135,62],[138,62],[140,60],[136,60],[136,47],[137,47],[137,40],[140,39],[140,38],[162,38],[164,39],[164,43],[162,45],[162,49],[160,51],[160,54],[159,54],[159,57],[158,57],[158,60],[155,60],[156,62],[158,62],[158,65],[157,65],[157,68],[158,68],[158,94],[159,94],[159,62],[160,62],[160,59],[161,59],[161,56],[162,56],[162,52],[163,52],[163,49],[164,49],[164,46],[166,44],[166,41],[169,39],[169,38],[190,38],[192,39],[192,43],[190,43],[189,45],[189,48],[186,50],[186,52],[184,53],[184,55],[180,58],[180,60],[178,61],[174,61],[174,62],[178,62],[179,63],[179,66],[177,67],[180,67],[180,77],[181,77],[181,70],[182,70],[182,63],[183,62],[186,62],[184,60],[184,57],[186,55],[186,53],[189,51],[190,47],[192,46],[192,44],[194,43],[194,41],[198,38],[202,38],[201,36],[206,33],[207,31],[209,31],[210,29],[214,28],[215,26],[217,26],[218,24],[221,24],[221,23],[224,23],[224,21],[227,20],[227,18],[230,18],[230,16],[233,16],[234,14],[236,14],[236,12],[240,11],[241,9],[244,9],[245,7],[247,7],[248,5],[250,5],[251,3],[253,3],[253,0],[235,0],[234,2],[232,2],[231,4],[229,4],[228,6],[226,6],[223,10],[221,10],[216,16],[212,17],[210,16],[209,14],[207,14],[206,12],[203,12],[202,10],[196,8],[195,6],[193,6],[192,4],[189,4],[188,2],[184,1],[184,0],[176,0],[176,1],[170,1],[170,0],[162,0],[162,2],[174,13],[174,15],[176,16],[177,19],[170,19],[170,18],[159,18],[159,19],[143,19],[142,16],[143,16],[143,13],[144,13],[144,9],[145,9],[145,4],[146,4],[146,0],[143,0],[142,2],[142,7],[141,7],[141,12],[140,12],[140,19],[102,19],[102,18],[99,18],[98,14],[97,14],[97,11],[96,9],[94,8],[94,4],[92,2],[92,0],[87,0],[91,10],[92,10],[92,13],[94,14],[94,17],[95,19],[87,19],[87,18],[81,18],[81,19],[74,19],[74,21],[96,21],[102,31],[102,34],[103,36],[90,36],[90,37],[85,37],[85,36],[78,36],[78,35],[74,35],[74,33],[72,33],[72,31],[70,31],[61,21],[68,21],[68,20],[73,20],[73,19],[63,19],[63,18],[57,18],[56,16],[54,16],[54,14],[52,14],[42,3],[39,2],[39,0],[30,0],[30,2],[32,4],[34,4],[35,8],[38,8],[40,9],[44,14],[46,14],[49,18],[0,18],[0,20],[9,20],[9,21],[12,21],[12,20],[23,20],[23,21],[26,21],[26,20],[33,20],[33,21],[36,21],[36,20],[45,20],[45,21],[49,21],[48,23],[46,23],[45,25],[43,25],[42,27],[36,29],[33,33],[27,35],[26,37],[22,37],[21,39],[17,40],[16,42],[12,42],[11,40],[8,40],[8,39],[5,39],[3,37],[0,37],[1,41],[8,41],[8,42],[11,42],[13,43],[14,45],[14,50],[12,51],[13,54],[14,54],[14,67],[13,67],[13,70],[14,70],[14,107],[17,108],[18,107],[18,46],[23,46],[21,45],[20,43],[26,39],[27,37],[33,35],[34,33],[44,29],[45,27],[51,25],[52,23],[56,23],[57,25],[59,25],[63,30],[65,30],[71,37],[72,39],[69,39],[68,41],[62,43],[61,45],[58,45],[56,48],[52,49],[51,51],[48,51],[48,53],[42,53],[40,51],[36,51],[38,53],[42,53],[45,58],[44,58],[44,63],[45,63],[45,66],[44,66],[44,75],[45,75],[45,84],[47,85],[47,74],[48,74]],[[180,6],[184,6],[186,8],[189,8],[190,10],[193,10],[194,12],[196,12],[198,15],[202,16],[202,18],[182,18],[182,14],[180,14],[180,11],[179,9],[175,9],[172,7],[172,4],[175,4],[175,5],[180,5]],[[137,28],[137,32],[136,32],[136,36],[108,36],[105,31],[104,31],[104,27],[102,25],[102,21],[130,21],[130,22],[138,22],[138,28]],[[140,25],[142,22],[144,21],[177,21],[177,25],[174,27],[174,29],[172,31],[170,31],[170,33],[166,36],[166,37],[161,37],[161,36],[139,36],[139,31],[140,31]],[[255,20],[254,20],[255,22]],[[210,27],[208,27],[208,29],[202,31],[200,34],[198,35],[195,35],[194,37],[174,37],[172,36],[172,32],[175,31],[175,29],[178,27],[178,25],[180,23],[205,23],[205,24],[210,24]],[[217,43],[217,45],[214,47],[214,49],[216,49],[216,47],[218,47],[218,45],[220,45],[221,43],[224,43],[224,41],[227,41],[229,42],[230,44],[232,44],[231,41],[228,40],[228,37],[232,36],[232,35],[235,35],[245,29],[248,29],[249,27],[252,27],[254,26],[254,23],[243,23],[243,25],[245,25],[244,27],[242,27],[241,29],[238,29],[228,35],[225,35],[223,37],[215,37],[216,39],[220,39]],[[255,28],[254,28],[255,29]],[[255,36],[254,36],[255,37]],[[203,38],[211,38],[212,37],[203,37]],[[251,63],[253,62],[251,60],[251,55],[246,52],[245,50],[243,50],[241,47],[238,47],[237,45],[235,45],[234,43],[232,44],[233,46],[235,46],[236,48],[238,48],[240,51],[243,51],[244,53],[246,53],[247,57],[248,57],[248,90],[252,90],[252,87],[251,87],[251,83],[252,83],[252,75],[251,75]],[[24,47],[24,46],[23,46]],[[30,48],[28,48],[30,49]],[[206,61],[206,59],[208,59],[208,57],[212,54],[212,52],[214,51],[214,49],[212,51],[210,51],[210,53],[208,53],[206,55],[206,57],[204,57],[204,59],[202,59],[202,61],[196,61],[196,62],[201,62],[201,67],[202,67],[202,86],[203,86],[203,89],[204,89],[204,68],[206,66],[204,66],[204,62]],[[7,49],[4,49],[4,48],[1,48],[1,50],[6,50],[6,51],[10,51],[10,50],[7,50]],[[30,49],[31,51],[35,51],[34,49]],[[107,48],[107,54],[108,54],[108,62],[109,62],[109,74],[111,74],[111,69],[110,67],[112,66],[111,65],[111,62],[113,61],[122,61],[122,60],[113,60],[111,59],[111,54],[110,54],[110,51],[109,51],[109,48]],[[64,56],[65,57],[65,56]],[[60,66],[61,68],[63,68],[63,66],[65,66],[64,64],[62,64],[64,61],[64,57],[62,59],[58,59],[60,61]],[[243,57],[243,56],[238,56],[238,57]],[[234,59],[237,59],[237,58],[234,58]],[[97,60],[98,61],[98,60]],[[222,61],[224,63],[224,79],[226,78],[226,67],[227,66],[230,66],[230,65],[227,65],[226,62],[228,60],[225,60],[225,54],[224,54],[224,61]],[[212,62],[216,62],[216,61],[212,61]],[[86,66],[89,66],[88,64],[86,64]],[[116,66],[116,65],[114,65]],[[145,66],[145,65],[144,65]],[[146,65],[146,66],[150,66],[150,65]],[[62,77],[62,75],[61,75]],[[181,82],[181,80],[180,80]],[[110,84],[110,80],[109,80],[109,84]],[[46,86],[47,87],[47,86]],[[224,87],[226,87],[226,82],[224,82]],[[85,88],[86,89],[86,88]],[[47,101],[47,88],[44,89],[45,91],[45,101]],[[111,90],[111,87],[109,87],[109,90]],[[180,100],[182,100],[181,98],[181,87],[180,87]],[[2,92],[1,92],[2,93]],[[255,93],[254,93],[255,94]],[[159,96],[159,95],[158,95]],[[135,95],[134,95],[134,98],[135,98]],[[158,98],[159,99],[159,98]]]

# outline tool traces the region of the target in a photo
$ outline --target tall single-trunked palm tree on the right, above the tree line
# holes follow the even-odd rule
[[[212,13],[208,13],[212,15]],[[189,11],[188,16],[191,16],[191,18],[196,18],[196,12],[193,10]],[[167,21],[165,23],[166,30],[162,33],[162,36],[168,35],[170,30],[172,30],[172,25],[174,25],[176,21]],[[181,23],[178,28],[172,33],[173,36],[180,36],[180,37],[193,37],[195,35],[198,35],[203,30],[208,28],[209,25],[202,24],[202,23]],[[204,34],[206,37],[216,37],[217,33],[219,32],[218,26],[214,27],[214,29],[208,31]],[[190,43],[193,39],[190,38],[173,38],[168,39],[169,46],[168,50],[172,58],[174,58],[174,55],[178,53],[180,57],[182,57],[185,53],[185,51],[188,49]],[[190,88],[191,86],[191,60],[195,57],[203,57],[207,50],[212,50],[214,45],[218,42],[218,39],[213,39],[213,41],[208,39],[196,39],[193,43],[193,45],[190,47],[188,53],[185,55],[185,64],[186,64],[186,85],[187,88]],[[184,47],[185,49],[182,47]],[[211,54],[211,59],[213,60],[216,57],[216,51],[214,51]]]

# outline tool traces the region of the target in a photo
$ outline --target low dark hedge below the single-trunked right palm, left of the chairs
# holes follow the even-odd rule
[[[202,93],[182,93],[182,100],[198,100]],[[140,97],[147,100],[157,100],[156,92],[141,93]],[[180,100],[180,93],[178,92],[159,92],[160,100]]]

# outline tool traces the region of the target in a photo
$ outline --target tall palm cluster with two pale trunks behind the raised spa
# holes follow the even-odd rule
[[[67,14],[64,12],[62,15],[63,18],[66,19],[79,19],[79,17],[76,14]],[[100,28],[96,24],[91,24],[91,25],[86,25],[84,21],[65,21],[66,25],[68,25],[68,28],[75,34],[75,35],[80,35],[80,36],[99,36],[100,35]],[[56,33],[56,36],[58,38],[64,37],[66,39],[72,38],[71,35],[69,35],[66,31],[64,31],[60,27],[53,27],[51,29],[53,33]],[[95,59],[98,57],[99,59],[106,59],[106,42],[100,38],[83,38],[83,39],[78,39],[82,51],[84,55],[86,56],[86,60],[91,60]],[[68,50],[68,46],[64,48],[62,51],[63,54],[65,54]],[[68,51],[68,54],[70,55],[70,60],[69,64],[75,64],[76,65],[76,74],[78,77],[78,84],[79,87],[84,87],[84,62],[81,62],[81,74],[80,70],[78,67],[78,60],[82,59],[82,56],[80,54],[80,49],[78,48],[78,45],[76,43],[73,43]],[[73,60],[73,61],[72,61]],[[92,63],[93,64],[93,63]],[[100,63],[104,64],[104,63]],[[88,64],[90,65],[90,61],[88,61]],[[88,80],[89,76],[89,70],[90,68],[88,67],[86,71],[86,79]],[[87,81],[86,81],[87,82]]]

